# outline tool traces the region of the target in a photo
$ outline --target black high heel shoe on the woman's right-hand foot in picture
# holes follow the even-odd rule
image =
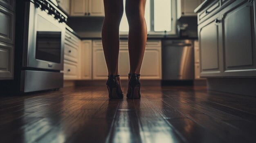
[[[129,80],[129,89],[130,93],[127,92],[126,97],[128,99],[140,99],[140,81],[139,81],[139,74],[136,73],[129,73],[131,75]]]

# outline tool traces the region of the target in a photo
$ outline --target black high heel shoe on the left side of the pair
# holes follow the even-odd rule
[[[108,98],[111,99],[123,99],[124,94],[118,92],[118,82],[117,82],[117,77],[119,75],[109,75],[108,80],[107,80],[107,88],[108,88]]]

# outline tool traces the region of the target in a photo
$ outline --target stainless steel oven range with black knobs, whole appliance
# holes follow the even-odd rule
[[[66,21],[52,0],[25,0],[20,91],[63,86]]]

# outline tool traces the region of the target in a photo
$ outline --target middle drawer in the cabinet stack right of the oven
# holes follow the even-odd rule
[[[73,62],[78,62],[78,49],[65,43],[64,59],[68,59]]]

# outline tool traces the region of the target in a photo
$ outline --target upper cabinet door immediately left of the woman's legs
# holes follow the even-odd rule
[[[89,13],[90,16],[104,16],[103,0],[89,0]]]

